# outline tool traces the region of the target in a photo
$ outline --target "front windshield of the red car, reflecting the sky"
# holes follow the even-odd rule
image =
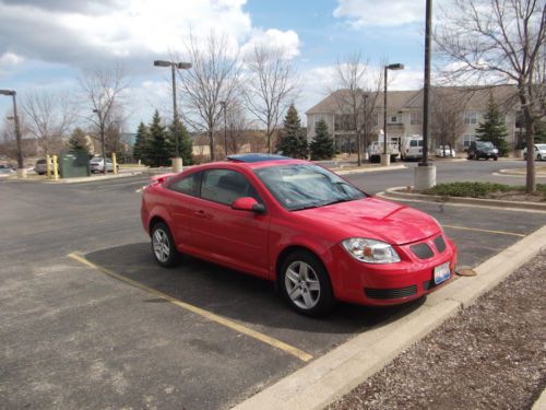
[[[354,201],[366,195],[318,165],[292,164],[254,171],[275,199],[287,210],[319,208]]]

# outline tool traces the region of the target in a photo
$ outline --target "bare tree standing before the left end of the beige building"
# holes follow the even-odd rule
[[[361,165],[363,153],[360,136],[364,131],[365,139],[368,139],[369,124],[375,114],[382,81],[382,70],[373,78],[369,72],[368,61],[363,60],[361,52],[348,56],[345,61],[337,59],[336,87],[341,90],[334,95],[339,110],[351,117],[347,128],[356,134],[358,166]],[[368,141],[365,141],[365,145],[368,145]]]

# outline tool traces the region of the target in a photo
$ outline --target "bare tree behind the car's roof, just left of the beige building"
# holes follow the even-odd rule
[[[245,82],[247,108],[265,126],[268,152],[272,152],[272,136],[288,105],[297,93],[296,72],[281,50],[254,46],[247,59],[248,79]]]

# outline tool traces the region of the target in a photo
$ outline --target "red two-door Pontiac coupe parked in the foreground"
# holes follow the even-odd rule
[[[434,218],[280,155],[235,155],[156,178],[141,214],[159,265],[187,254],[276,281],[309,316],[335,301],[405,303],[455,268],[455,245]]]

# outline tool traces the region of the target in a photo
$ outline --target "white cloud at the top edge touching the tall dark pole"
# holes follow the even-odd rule
[[[397,26],[425,20],[425,1],[337,0],[335,17],[348,19],[355,28]]]

